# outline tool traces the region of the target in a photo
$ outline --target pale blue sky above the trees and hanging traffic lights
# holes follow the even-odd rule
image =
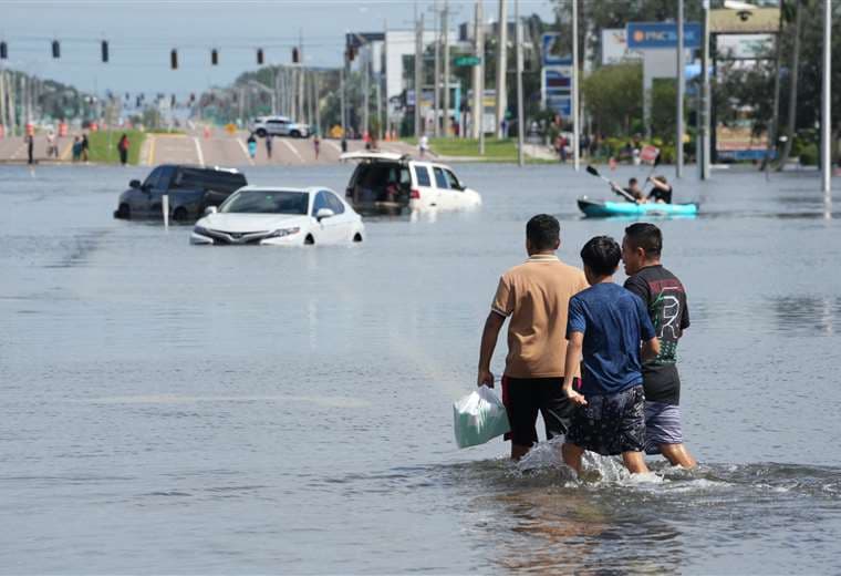
[[[438,1],[443,4],[443,0]],[[344,34],[413,29],[415,7],[430,22],[433,0],[0,0],[0,40],[9,47],[15,70],[104,93],[165,93],[183,97],[211,85],[226,85],[257,65],[291,62],[292,45],[303,39],[304,64],[336,68]],[[474,0],[450,0],[450,23],[473,18]],[[485,0],[487,20],[496,20],[498,2]],[[513,2],[509,2],[509,17]],[[549,0],[520,0],[522,14],[551,20]],[[51,42],[61,42],[53,60]],[[100,42],[108,41],[110,61],[102,63]],[[219,65],[210,64],[210,50]],[[178,50],[178,70],[169,69],[169,51]]]

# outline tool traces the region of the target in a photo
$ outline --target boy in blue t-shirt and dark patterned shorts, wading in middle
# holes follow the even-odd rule
[[[645,473],[645,397],[642,354],[654,358],[660,342],[638,296],[613,284],[622,250],[609,236],[596,236],[581,249],[590,288],[570,299],[563,389],[577,410],[563,444],[563,461],[581,472],[585,450],[622,454],[632,473]],[[572,389],[581,364],[581,389]]]

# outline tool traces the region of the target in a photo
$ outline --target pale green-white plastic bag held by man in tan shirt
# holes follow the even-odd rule
[[[453,404],[453,428],[458,448],[484,444],[511,430],[506,407],[486,385]]]

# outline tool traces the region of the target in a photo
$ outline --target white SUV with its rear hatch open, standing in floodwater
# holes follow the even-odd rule
[[[349,152],[342,160],[360,164],[345,197],[356,212],[399,214],[405,209],[460,209],[481,205],[478,192],[460,182],[453,168],[390,152]]]

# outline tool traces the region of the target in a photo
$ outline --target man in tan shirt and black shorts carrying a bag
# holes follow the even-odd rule
[[[511,459],[519,460],[538,442],[538,411],[547,439],[565,434],[572,404],[563,393],[567,356],[567,309],[570,298],[588,288],[584,272],[554,255],[561,245],[561,227],[548,214],[526,226],[529,259],[506,271],[485,321],[479,349],[478,385],[494,388],[490,359],[499,330],[508,322],[508,356],[502,376],[502,402],[511,432]]]

